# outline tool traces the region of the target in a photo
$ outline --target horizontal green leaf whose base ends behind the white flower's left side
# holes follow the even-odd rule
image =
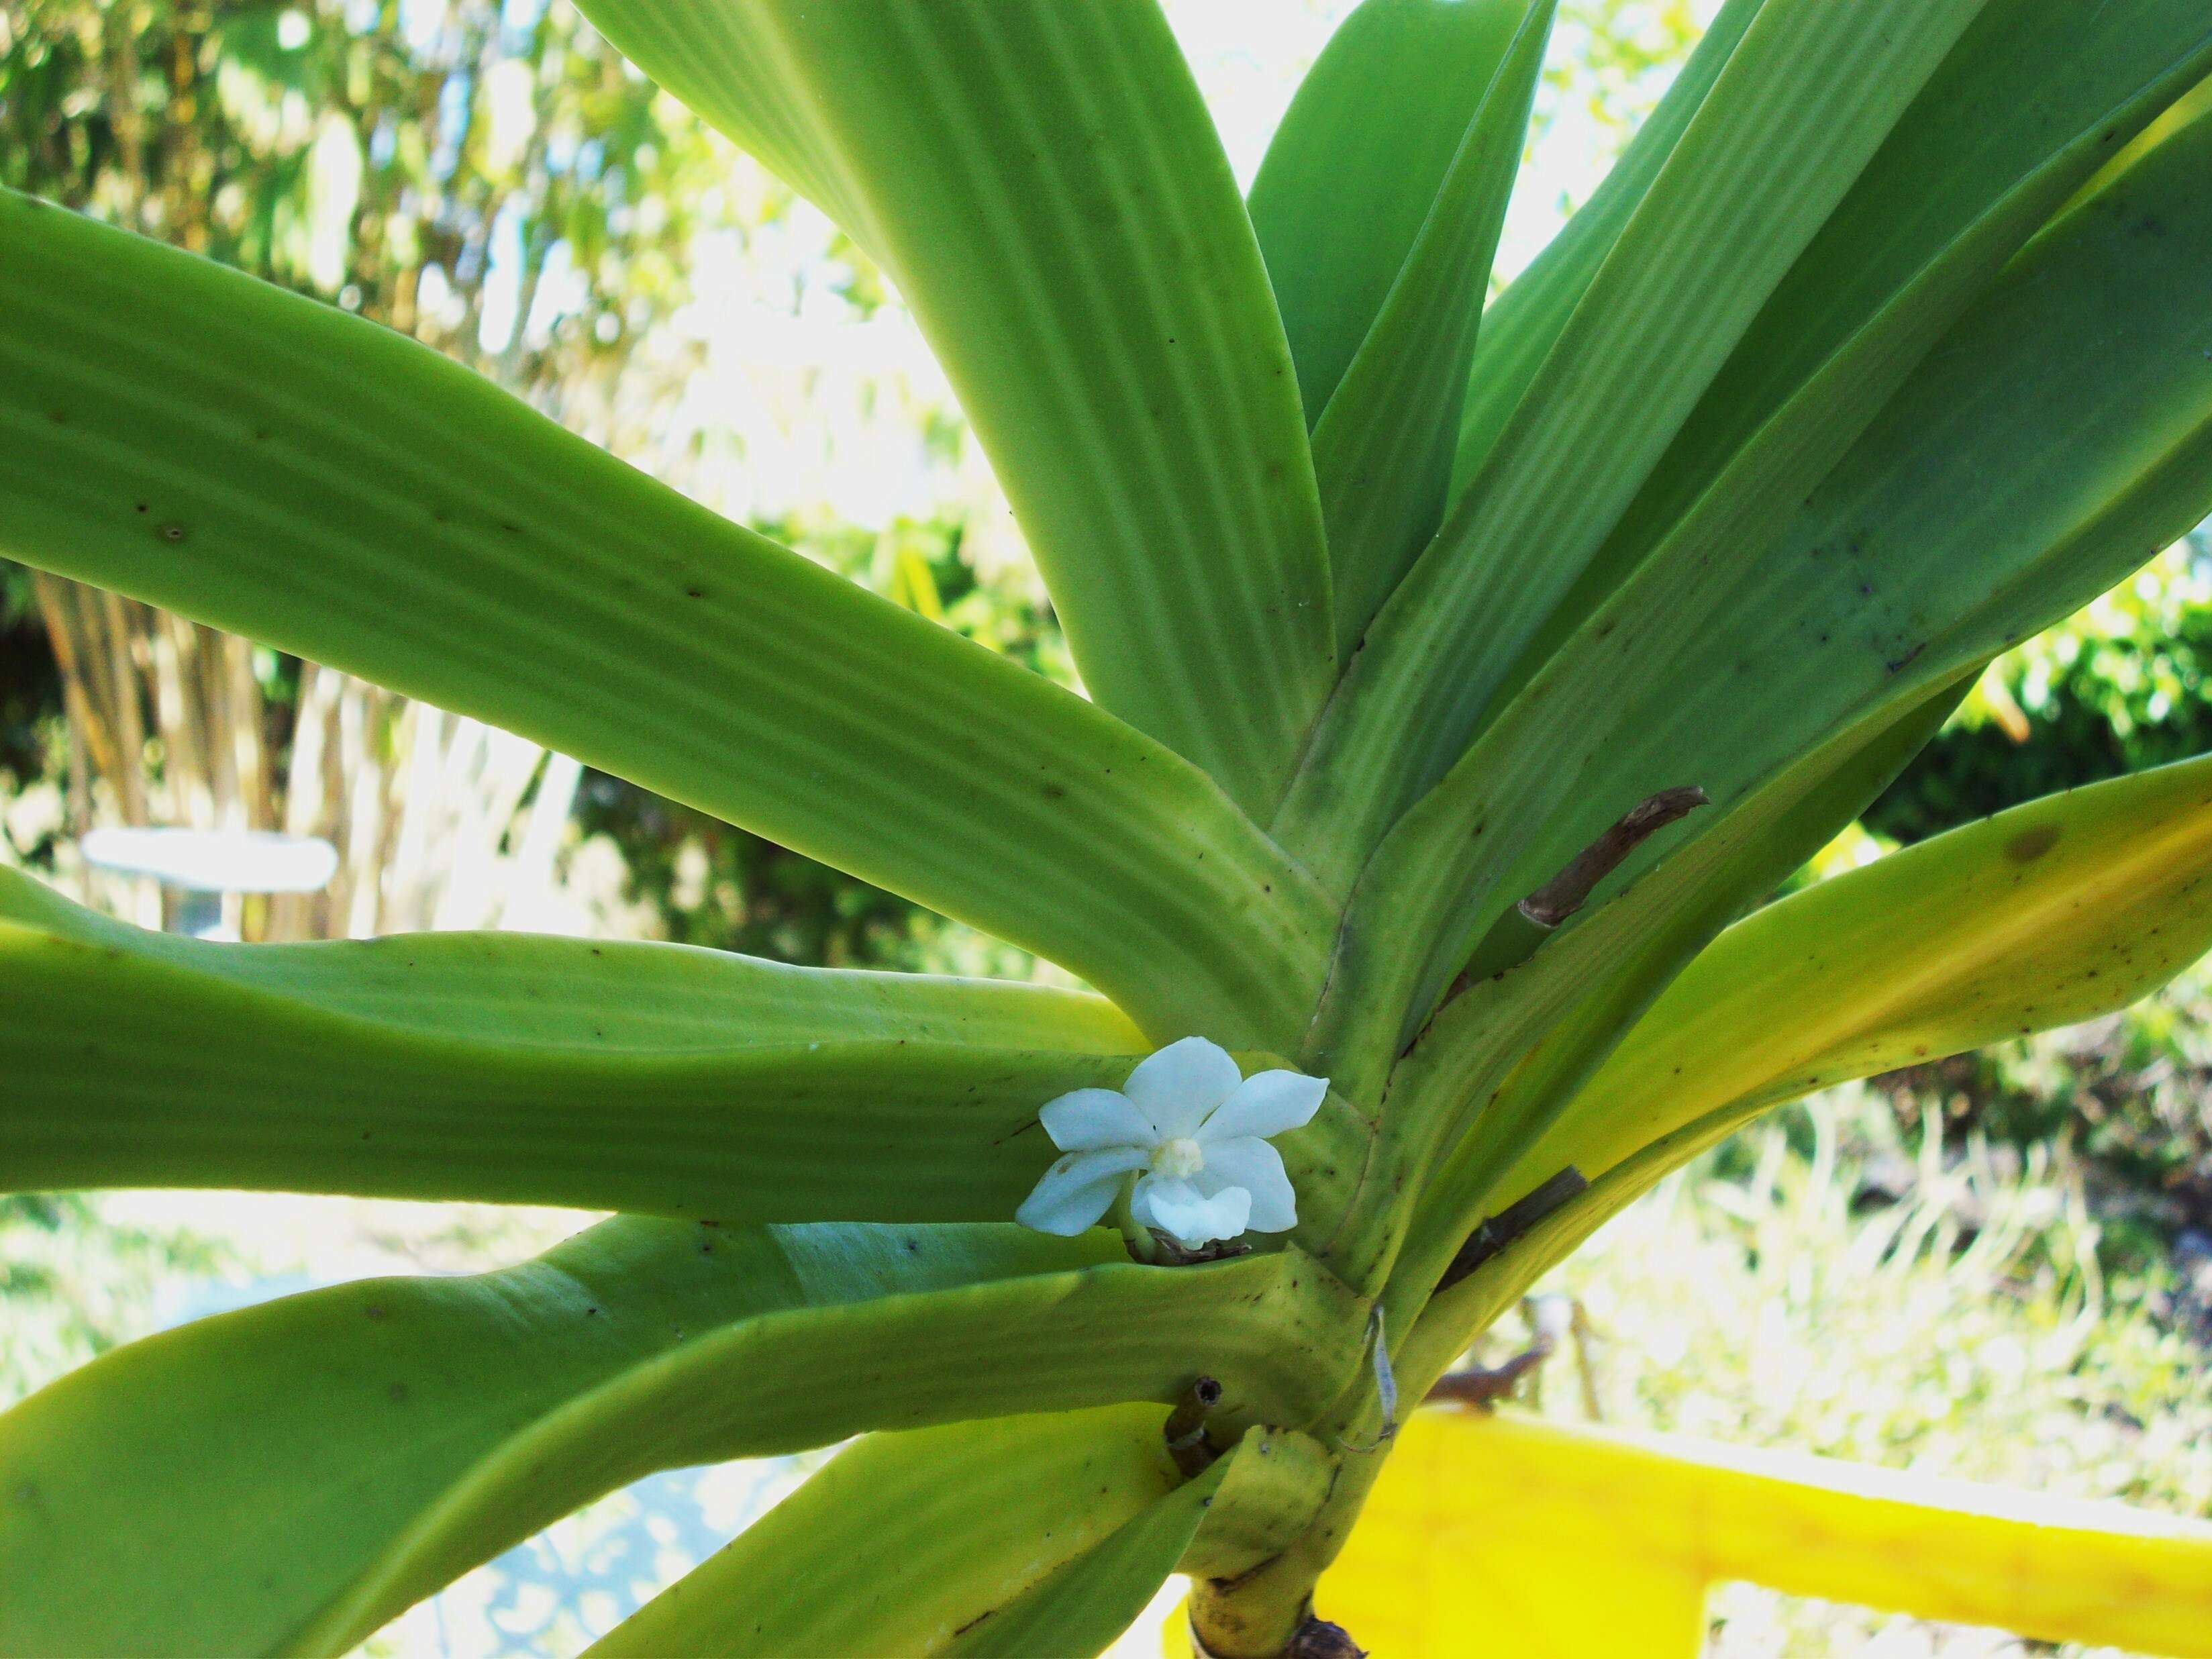
[[[1110,1004],[668,945],[206,945],[0,872],[0,1190],[217,1186],[721,1221],[1004,1221]]]

